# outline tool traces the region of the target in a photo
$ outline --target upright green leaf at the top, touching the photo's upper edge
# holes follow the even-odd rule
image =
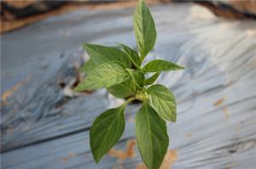
[[[156,31],[154,20],[144,0],[139,0],[133,16],[133,27],[142,60],[154,48]]]

